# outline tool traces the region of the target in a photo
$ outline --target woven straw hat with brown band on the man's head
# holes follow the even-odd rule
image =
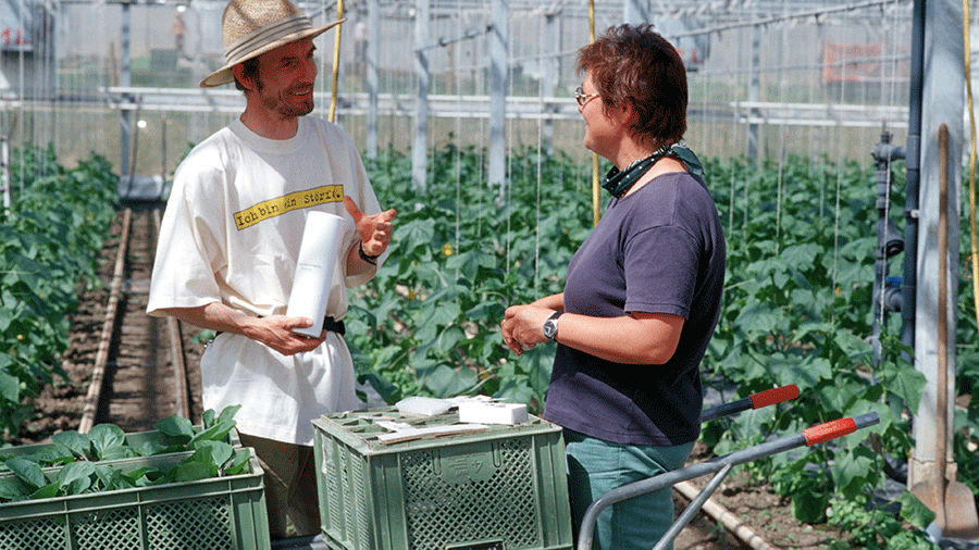
[[[312,38],[346,20],[314,27],[289,0],[231,0],[221,20],[227,63],[200,82],[201,88],[235,82],[234,65],[302,38]]]

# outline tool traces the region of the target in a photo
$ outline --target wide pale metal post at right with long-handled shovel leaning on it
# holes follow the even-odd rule
[[[947,247],[939,250],[940,230],[939,203],[942,178],[947,179],[949,201],[961,204],[962,151],[963,151],[963,113],[965,112],[965,67],[962,59],[965,51],[962,33],[949,33],[949,28],[962,28],[963,4],[956,0],[929,0],[922,2],[925,10],[924,40],[924,76],[921,87],[921,130],[920,130],[920,180],[918,189],[918,241],[915,303],[915,368],[928,379],[921,403],[916,411],[914,422],[915,451],[908,467],[908,485],[933,478],[937,474],[938,461],[945,457],[935,457],[938,440],[951,438],[951,429],[939,433],[942,417],[954,417],[952,405],[954,399],[954,376],[947,377],[945,387],[939,386],[939,370],[942,360],[952,372],[955,372],[956,353],[954,339],[939,346],[939,312],[954,312],[958,302],[958,242],[961,209],[949,209],[947,212]],[[940,145],[940,128],[949,130],[946,150]],[[947,163],[947,172],[940,166]],[[944,237],[944,235],[942,235]],[[905,242],[905,247],[908,245]],[[947,277],[939,278],[939,262],[945,258],[949,262]],[[940,289],[947,289],[944,310],[939,304]],[[947,334],[956,334],[955,315],[946,315]],[[940,411],[943,396],[945,411]],[[943,416],[944,415],[944,416]],[[952,446],[947,445],[947,449]],[[955,463],[946,468],[950,479],[955,479]]]

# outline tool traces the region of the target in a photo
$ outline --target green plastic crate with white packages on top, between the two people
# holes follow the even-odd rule
[[[381,443],[377,421],[458,424],[458,413],[408,418],[394,408],[313,421],[324,541],[340,550],[570,549],[561,428],[516,426]]]

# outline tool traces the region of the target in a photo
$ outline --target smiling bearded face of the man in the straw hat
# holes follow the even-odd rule
[[[282,118],[303,116],[313,110],[317,79],[315,46],[303,38],[259,57],[256,91],[262,109]]]

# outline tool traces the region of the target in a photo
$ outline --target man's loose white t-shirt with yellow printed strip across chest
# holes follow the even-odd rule
[[[181,163],[163,215],[148,314],[211,302],[253,316],[285,314],[306,215],[315,210],[345,221],[326,308],[327,315],[344,317],[347,288],[376,270],[346,274],[346,254],[359,236],[343,198],[365,214],[381,207],[350,138],[323,120],[298,121],[294,138],[274,140],[235,120]],[[244,434],[312,445],[312,420],[360,405],[350,352],[335,333],[293,357],[221,334],[200,367],[205,409],[243,405],[235,421]]]

